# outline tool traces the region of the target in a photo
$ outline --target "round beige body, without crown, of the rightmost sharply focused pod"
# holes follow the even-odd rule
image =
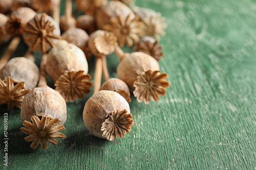
[[[124,81],[130,90],[134,90],[134,82],[147,70],[159,70],[156,59],[142,52],[134,52],[123,58],[117,66],[117,77]]]

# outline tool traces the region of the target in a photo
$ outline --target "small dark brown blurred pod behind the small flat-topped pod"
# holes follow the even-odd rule
[[[90,35],[96,31],[95,18],[91,15],[80,15],[76,18],[76,27],[86,31]]]

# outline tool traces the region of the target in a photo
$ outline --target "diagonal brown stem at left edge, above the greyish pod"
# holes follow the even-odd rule
[[[7,50],[5,51],[4,55],[0,59],[0,70],[5,66],[7,61],[10,59],[13,51],[18,46],[18,43],[20,41],[20,36],[13,37],[11,43],[9,44]]]

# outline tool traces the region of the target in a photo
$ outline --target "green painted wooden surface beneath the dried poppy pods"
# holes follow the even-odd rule
[[[94,137],[84,126],[82,110],[92,93],[68,103],[67,138],[48,150],[30,149],[19,130],[20,110],[8,112],[8,169],[256,169],[255,1],[136,4],[166,17],[159,62],[169,76],[166,95],[148,105],[132,97],[134,126],[115,141]],[[24,47],[15,54],[23,55]],[[108,63],[115,77],[117,57]],[[89,64],[93,77],[94,60]],[[1,136],[5,112],[1,106]],[[3,142],[2,137],[1,168]]]

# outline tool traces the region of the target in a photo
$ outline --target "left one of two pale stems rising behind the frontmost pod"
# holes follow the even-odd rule
[[[95,71],[94,71],[94,88],[93,94],[100,90],[101,77],[102,77],[102,57],[96,57]]]

